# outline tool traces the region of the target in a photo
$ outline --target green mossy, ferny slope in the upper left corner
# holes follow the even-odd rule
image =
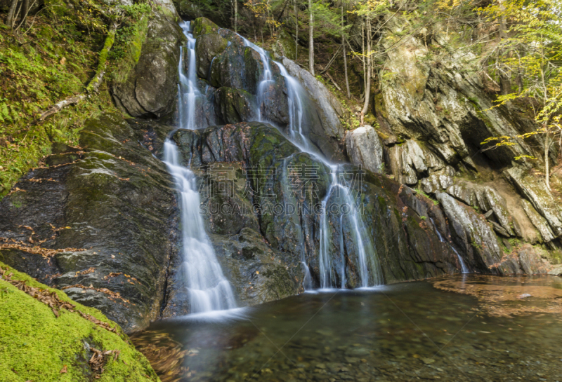
[[[77,144],[89,117],[100,109],[113,111],[105,85],[75,107],[68,107],[43,123],[38,113],[84,91],[98,67],[109,6],[77,0],[45,0],[29,32],[0,37],[0,198],[18,178],[51,154],[51,144]],[[84,31],[88,31],[87,33]]]

